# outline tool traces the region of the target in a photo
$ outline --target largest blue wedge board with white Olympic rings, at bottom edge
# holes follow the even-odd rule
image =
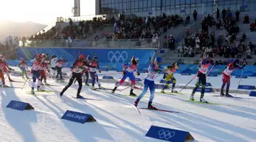
[[[184,141],[193,141],[194,138],[191,136],[191,133],[188,131],[181,131],[176,129],[167,129],[159,126],[151,126],[149,131],[146,133],[147,137],[156,138],[164,141],[175,141],[175,142],[184,142]]]

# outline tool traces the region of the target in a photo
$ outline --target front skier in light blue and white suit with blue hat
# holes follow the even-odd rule
[[[156,80],[156,77],[160,74],[161,70],[159,69],[159,64],[162,62],[162,58],[156,57],[153,63],[149,65],[148,72],[146,73],[146,78],[144,80],[144,89],[142,91],[142,94],[139,94],[139,97],[137,98],[136,102],[134,102],[134,106],[137,107],[139,100],[144,97],[144,95],[147,92],[147,89],[150,90],[150,97],[149,97],[149,104],[148,109],[156,109],[156,107],[152,106],[152,102],[154,99],[154,91],[155,91],[155,84],[154,80]]]

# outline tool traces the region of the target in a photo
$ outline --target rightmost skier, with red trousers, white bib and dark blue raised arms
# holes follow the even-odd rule
[[[228,66],[225,68],[225,70],[222,72],[222,80],[223,84],[221,86],[220,95],[225,97],[233,97],[232,95],[228,94],[229,87],[230,87],[230,75],[231,73],[236,69],[243,69],[245,67],[245,62],[243,63],[242,67],[239,66],[239,60],[236,59],[233,62],[230,62]],[[227,84],[226,87],[226,93],[224,94],[224,87]]]

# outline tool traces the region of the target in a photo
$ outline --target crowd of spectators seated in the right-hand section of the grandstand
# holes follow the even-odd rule
[[[255,45],[250,41],[245,42],[247,38],[245,33],[242,33],[241,38],[237,37],[240,32],[237,23],[239,21],[239,11],[236,11],[235,17],[232,16],[230,9],[223,9],[222,14],[223,18],[220,19],[218,9],[216,13],[217,22],[215,22],[213,16],[205,17],[201,23],[201,33],[197,31],[195,37],[188,35],[184,44],[177,48],[178,56],[193,57],[196,54],[210,53],[211,57],[218,55],[225,58],[242,58],[242,54],[245,53],[246,58],[252,58],[253,50],[256,54]],[[243,23],[250,23],[248,15],[245,15]],[[213,32],[209,35],[208,29],[212,26],[216,26],[217,30],[225,30],[227,34],[215,35]]]

